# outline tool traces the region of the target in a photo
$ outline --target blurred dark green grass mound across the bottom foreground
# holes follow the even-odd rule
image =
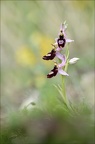
[[[90,109],[84,107],[82,113],[73,116],[67,114],[62,105],[53,110],[54,107],[51,107],[50,113],[34,108],[32,111],[11,113],[1,129],[1,143],[94,144],[94,124],[90,119]]]

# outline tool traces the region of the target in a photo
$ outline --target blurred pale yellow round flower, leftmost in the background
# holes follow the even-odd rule
[[[29,47],[22,46],[16,51],[16,61],[24,66],[34,66],[36,57]]]

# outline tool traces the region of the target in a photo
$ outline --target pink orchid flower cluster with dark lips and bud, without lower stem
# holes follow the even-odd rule
[[[56,76],[58,73],[64,76],[69,76],[64,69],[67,69],[68,64],[74,64],[76,63],[79,58],[72,58],[71,60],[68,59],[68,56],[66,57],[65,55],[61,54],[61,50],[65,47],[66,43],[73,42],[74,40],[67,39],[66,36],[66,31],[67,29],[67,24],[66,21],[61,24],[60,26],[60,32],[58,34],[58,38],[56,39],[56,42],[54,44],[51,44],[53,46],[52,50],[47,53],[47,55],[43,56],[44,60],[53,60],[55,57],[61,60],[61,63],[56,63],[53,67],[53,69],[49,72],[47,75],[47,78],[52,78]],[[69,52],[68,52],[69,53]],[[68,54],[66,54],[68,55]],[[66,67],[65,67],[66,65]]]

